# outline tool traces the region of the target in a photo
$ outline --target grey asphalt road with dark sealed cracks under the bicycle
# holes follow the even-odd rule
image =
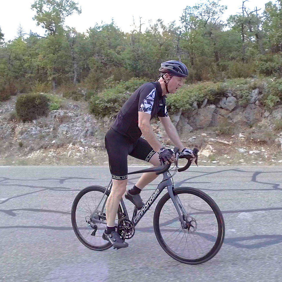
[[[130,176],[130,186],[137,176]],[[160,179],[145,188],[143,199]],[[83,246],[71,226],[73,199],[109,180],[108,167],[0,167],[0,281],[282,281],[282,167],[191,167],[174,177],[176,187],[209,194],[224,216],[224,244],[200,265],[179,263],[162,250],[153,230],[156,203],[128,248]]]

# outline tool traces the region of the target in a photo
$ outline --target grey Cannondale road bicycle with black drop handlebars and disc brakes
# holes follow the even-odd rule
[[[197,154],[197,151],[198,149],[194,148],[194,154]],[[179,152],[177,147],[174,148],[174,152],[176,155],[175,174],[176,170],[182,172],[188,169],[192,159]],[[178,160],[181,158],[186,158],[188,162],[184,167],[178,168]],[[174,174],[170,174],[170,166],[171,164],[162,162],[159,167],[128,173],[156,172],[156,174],[163,174],[163,180],[142,209],[138,211],[135,207],[131,220],[125,203],[121,199],[115,226],[123,239],[131,239],[135,234],[135,226],[160,196],[163,189],[167,188],[168,192],[160,199],[154,212],[153,225],[157,240],[169,256],[181,263],[204,263],[212,259],[223,244],[225,227],[222,213],[214,200],[201,190],[192,187],[174,188],[172,179]],[[107,224],[105,204],[111,188],[112,181],[107,188],[88,186],[81,190],[74,199],[71,209],[73,230],[80,242],[89,249],[104,251],[112,246],[108,241],[102,239]],[[199,228],[202,228],[200,232]],[[184,236],[186,243],[185,239],[183,240]],[[177,238],[181,240],[177,241]],[[184,243],[184,246],[181,245],[181,242]],[[195,255],[193,251],[198,252],[199,255]]]

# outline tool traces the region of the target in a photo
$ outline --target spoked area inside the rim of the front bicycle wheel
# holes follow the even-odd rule
[[[159,229],[166,248],[176,256],[187,260],[199,260],[206,256],[216,244],[219,234],[218,222],[211,206],[202,198],[192,193],[177,194],[182,207],[187,213],[188,229],[174,226],[179,224],[179,216],[173,202],[169,198],[160,211]],[[185,221],[184,220],[184,221]],[[197,228],[197,231],[195,230]],[[183,232],[183,234],[181,233]]]

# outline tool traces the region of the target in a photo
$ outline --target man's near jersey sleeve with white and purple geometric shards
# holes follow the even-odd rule
[[[156,88],[152,83],[148,83],[140,91],[138,112],[144,112],[151,115],[155,100]]]

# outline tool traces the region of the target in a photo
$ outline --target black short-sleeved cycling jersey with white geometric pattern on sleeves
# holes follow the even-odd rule
[[[138,127],[138,112],[150,114],[151,119],[168,117],[165,98],[158,81],[141,85],[124,103],[111,127],[132,142],[137,141],[142,135]]]

